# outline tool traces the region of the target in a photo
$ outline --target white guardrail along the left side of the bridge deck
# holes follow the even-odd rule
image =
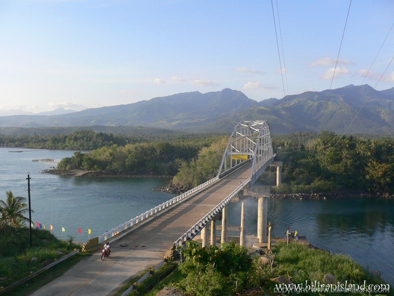
[[[203,187],[205,187],[207,185],[210,185],[210,184],[216,182],[217,180],[219,180],[219,177],[215,177],[211,180],[208,180],[207,182],[202,183],[201,185],[198,185],[197,187],[194,187],[194,188],[190,189],[189,191],[182,193],[181,195],[175,196],[174,198],[167,200],[166,202],[158,205],[157,207],[155,207],[153,209],[150,209],[149,211],[146,211],[145,213],[142,213],[141,215],[131,219],[130,221],[127,221],[127,222],[99,235],[99,243],[107,240],[110,237],[117,235],[119,232],[126,230],[137,223],[140,223],[140,222],[146,220],[150,216],[153,216],[156,213],[168,208],[169,206],[173,205],[174,203],[182,201],[183,199],[185,199],[185,197],[195,193],[196,191],[202,189]]]

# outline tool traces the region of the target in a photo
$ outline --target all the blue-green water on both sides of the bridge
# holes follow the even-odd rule
[[[10,153],[9,150],[24,152]],[[172,198],[155,188],[167,180],[156,178],[74,178],[41,174],[56,166],[32,159],[59,161],[73,151],[0,148],[0,199],[5,191],[27,197],[27,174],[31,173],[34,222],[52,224],[58,237],[78,240],[78,228],[87,239],[99,235]],[[247,232],[257,233],[257,200],[247,199]],[[205,213],[201,213],[205,214]],[[239,226],[240,203],[230,203],[229,224]],[[377,269],[394,285],[394,200],[268,200],[268,221],[273,237],[284,237],[289,225],[311,244],[332,253],[350,255],[364,267]],[[65,227],[66,232],[61,232]],[[180,234],[181,235],[181,234]]]

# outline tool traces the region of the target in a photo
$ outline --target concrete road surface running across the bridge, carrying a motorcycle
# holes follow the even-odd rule
[[[112,295],[127,279],[158,264],[174,241],[235,190],[239,182],[248,179],[250,172],[248,163],[112,243],[110,258],[101,261],[101,253],[96,252],[33,296]]]

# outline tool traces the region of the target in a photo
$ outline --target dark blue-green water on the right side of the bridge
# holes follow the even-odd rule
[[[247,233],[257,234],[257,200],[246,201]],[[229,224],[240,225],[239,202],[230,203]],[[272,237],[285,237],[287,227],[305,235],[314,246],[350,255],[369,270],[378,270],[394,285],[394,200],[268,199]]]

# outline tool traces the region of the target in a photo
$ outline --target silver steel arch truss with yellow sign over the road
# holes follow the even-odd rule
[[[240,121],[231,133],[218,177],[222,178],[246,162],[253,161],[250,174],[252,185],[273,162],[275,155],[267,121]]]

